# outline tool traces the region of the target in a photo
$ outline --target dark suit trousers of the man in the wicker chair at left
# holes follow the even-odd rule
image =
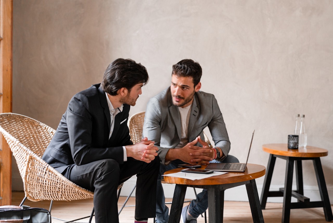
[[[154,218],[156,212],[156,184],[160,158],[151,163],[128,157],[119,164],[103,159],[85,165],[70,165],[62,174],[73,183],[94,191],[95,222],[119,222],[117,188],[133,175],[137,175],[136,218]]]

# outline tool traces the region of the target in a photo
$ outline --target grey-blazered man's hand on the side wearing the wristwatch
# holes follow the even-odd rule
[[[195,151],[189,153],[189,155],[192,156],[191,162],[209,164],[209,161],[213,160],[215,157],[215,151],[214,149],[211,149],[207,142],[203,141],[200,136],[197,138],[198,142],[202,145],[202,148],[194,145],[188,146],[190,149],[195,149]]]

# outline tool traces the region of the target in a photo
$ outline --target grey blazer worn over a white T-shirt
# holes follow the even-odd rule
[[[198,91],[194,94],[188,123],[188,141],[197,136],[204,139],[203,129],[208,126],[215,146],[220,147],[224,155],[230,150],[230,141],[222,113],[214,95]],[[143,137],[155,141],[159,148],[161,163],[165,164],[166,153],[180,142],[179,110],[172,104],[170,87],[151,98],[147,104]],[[197,145],[201,145],[197,143]]]

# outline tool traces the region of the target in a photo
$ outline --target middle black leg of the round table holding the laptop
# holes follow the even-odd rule
[[[220,190],[219,185],[209,186],[208,187],[209,223],[223,222],[223,206],[224,206],[224,190]]]

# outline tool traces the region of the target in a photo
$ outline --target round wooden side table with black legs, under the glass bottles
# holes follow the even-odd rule
[[[267,197],[283,196],[282,223],[289,222],[290,209],[313,207],[323,207],[326,221],[332,221],[333,216],[331,204],[320,162],[320,157],[327,156],[328,151],[314,146],[306,146],[305,148],[300,147],[299,149],[288,149],[287,144],[264,144],[262,145],[262,150],[269,153],[269,160],[267,164],[267,174],[265,176],[261,192],[261,209],[265,209]],[[276,157],[287,161],[284,188],[279,188],[278,191],[269,191]],[[310,201],[310,198],[304,196],[302,160],[313,161],[321,201]],[[296,170],[296,190],[292,190],[294,163]],[[291,202],[292,196],[297,198],[298,202]]]

